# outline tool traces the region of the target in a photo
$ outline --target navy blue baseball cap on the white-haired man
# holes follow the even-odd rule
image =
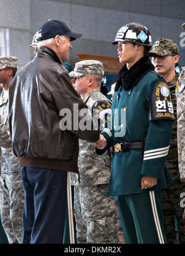
[[[70,36],[70,41],[80,38],[82,35],[79,33],[74,33],[70,31],[67,25],[61,20],[48,20],[38,31],[38,41],[43,41],[49,38],[54,38],[55,36],[65,35]]]

